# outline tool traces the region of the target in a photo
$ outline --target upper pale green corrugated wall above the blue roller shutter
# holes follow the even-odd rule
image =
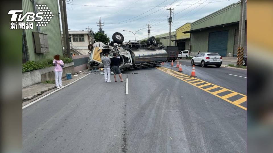
[[[240,4],[233,3],[191,24],[191,30],[210,27],[214,25],[238,22],[240,19]],[[209,19],[209,20],[208,20]]]

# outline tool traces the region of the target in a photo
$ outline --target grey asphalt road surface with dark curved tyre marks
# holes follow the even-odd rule
[[[226,73],[246,76],[196,67],[199,79],[246,94],[246,79]],[[156,68],[123,78],[128,95],[126,82],[95,72],[23,109],[23,152],[246,152],[247,111]]]

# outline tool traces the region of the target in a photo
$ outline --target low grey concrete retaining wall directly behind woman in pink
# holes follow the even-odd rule
[[[63,75],[66,76],[66,73],[74,73],[74,63],[65,63],[63,67]],[[44,69],[38,69],[30,72],[23,73],[23,88],[31,86],[33,84],[40,83],[45,80],[55,80],[54,66],[47,67]]]

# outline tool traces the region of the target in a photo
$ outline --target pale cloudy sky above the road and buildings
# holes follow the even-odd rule
[[[97,32],[99,16],[102,27],[112,40],[115,32],[124,36],[124,41],[135,40],[131,32],[136,32],[136,39],[148,37],[148,22],[151,24],[150,36],[169,32],[168,18],[170,5],[174,8],[171,31],[175,31],[187,22],[194,22],[238,0],[67,0],[67,21],[70,30],[86,30],[87,26]],[[71,3],[72,2],[72,3]],[[212,2],[212,3],[211,3]],[[69,3],[69,4],[68,4]],[[94,6],[108,7],[94,7]],[[179,6],[175,6],[179,5]],[[156,7],[158,6],[158,7]],[[163,7],[161,7],[163,6]],[[165,7],[166,6],[166,7]],[[133,8],[134,7],[134,8]]]

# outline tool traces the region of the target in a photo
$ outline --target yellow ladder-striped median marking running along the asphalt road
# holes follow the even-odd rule
[[[180,73],[182,76],[181,76],[181,75],[175,76],[175,74],[178,74],[179,72],[173,71],[173,70],[171,70],[171,69],[167,69],[167,68],[165,68],[165,67],[163,67],[163,68],[162,68],[162,67],[157,67],[157,69],[159,69],[160,71],[163,71],[163,72],[165,72],[165,73],[167,73],[167,74],[169,74],[169,75],[171,75],[171,76],[174,76],[174,77],[176,77],[176,78],[178,78],[178,79],[180,79],[180,80],[182,80],[182,81],[184,81],[184,82],[187,82],[187,80],[190,80],[190,78],[187,78],[187,77],[190,77],[190,76],[185,75],[185,74],[183,74],[183,73]],[[185,75],[185,76],[184,76],[184,75]],[[186,78],[186,79],[183,80],[183,78]],[[195,87],[197,87],[197,88],[199,88],[199,89],[201,89],[201,90],[204,90],[204,91],[206,91],[206,92],[208,92],[208,93],[210,93],[210,94],[212,94],[212,95],[214,95],[214,96],[216,96],[216,97],[218,97],[218,98],[221,98],[221,99],[223,99],[223,100],[225,100],[225,101],[227,101],[227,102],[229,102],[229,103],[231,103],[231,104],[237,106],[237,107],[240,107],[240,108],[242,108],[242,109],[244,109],[244,110],[247,110],[247,108],[245,108],[245,107],[239,105],[239,104],[241,104],[241,103],[247,101],[247,96],[246,96],[246,95],[243,95],[243,94],[237,93],[237,92],[235,92],[235,91],[232,91],[232,90],[229,90],[229,89],[226,89],[226,88],[217,86],[217,85],[215,85],[215,84],[211,84],[211,83],[209,83],[209,82],[200,80],[200,79],[198,79],[198,78],[192,77],[191,79],[196,79],[196,80],[189,81],[189,82],[187,82],[188,84],[191,84],[191,85],[193,85],[193,86],[195,86]],[[196,82],[196,81],[200,81],[200,82]],[[191,82],[196,82],[196,83],[191,83]],[[197,86],[197,84],[202,84],[202,83],[206,83],[206,84],[201,85],[201,86]],[[203,86],[208,86],[208,85],[212,85],[213,87],[206,88],[206,89],[203,89],[203,88],[202,88]],[[223,88],[223,89],[222,89],[222,90],[215,91],[215,92],[210,92],[210,91],[209,91],[209,90],[212,90],[212,89],[215,89],[215,88],[218,88],[218,87],[219,87],[219,88]],[[219,96],[219,95],[217,95],[217,94],[219,94],[219,93],[221,93],[221,92],[225,92],[225,91],[229,91],[229,92],[231,92],[231,93],[228,94],[228,95],[225,95],[225,96]],[[230,100],[227,99],[227,98],[232,97],[232,96],[234,96],[234,95],[242,95],[243,97],[242,97],[241,99],[238,99],[238,100],[235,100],[235,101],[230,101]]]

